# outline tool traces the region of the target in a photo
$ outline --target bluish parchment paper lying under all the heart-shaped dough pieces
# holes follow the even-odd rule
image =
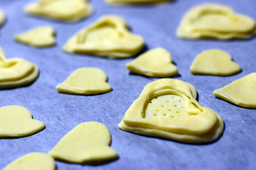
[[[0,1],[0,8],[7,17],[0,30],[0,46],[8,58],[21,57],[35,63],[40,69],[40,76],[28,87],[0,90],[0,106],[24,106],[35,119],[44,122],[46,128],[25,138],[0,139],[0,169],[26,153],[49,152],[68,131],[88,121],[102,122],[109,128],[113,139],[111,147],[116,150],[119,159],[102,166],[56,161],[58,169],[256,169],[256,111],[239,108],[212,95],[213,90],[256,71],[256,39],[188,41],[175,36],[184,13],[192,6],[207,1],[176,0],[157,6],[118,6],[92,0],[93,15],[72,24],[25,14],[24,6],[29,2]],[[237,13],[256,20],[256,1],[212,2],[227,4]],[[172,53],[180,74],[176,78],[195,85],[199,103],[223,118],[225,131],[218,141],[207,145],[190,145],[118,129],[118,122],[143,87],[157,79],[129,74],[125,64],[132,58],[105,59],[61,50],[73,34],[100,16],[109,14],[124,17],[132,32],[143,36],[148,50],[161,46]],[[13,34],[44,25],[56,29],[56,46],[33,48],[13,40]],[[230,53],[243,71],[227,77],[191,74],[189,66],[195,56],[209,48],[220,48]],[[113,91],[98,96],[58,94],[56,85],[79,67],[99,67],[105,71]]]

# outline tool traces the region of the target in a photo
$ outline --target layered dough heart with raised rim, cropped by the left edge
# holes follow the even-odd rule
[[[6,59],[0,48],[0,89],[28,85],[38,77],[35,64],[24,59]]]

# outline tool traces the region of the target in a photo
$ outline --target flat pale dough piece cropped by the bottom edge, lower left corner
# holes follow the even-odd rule
[[[45,153],[28,153],[14,160],[3,170],[55,170],[54,159]]]

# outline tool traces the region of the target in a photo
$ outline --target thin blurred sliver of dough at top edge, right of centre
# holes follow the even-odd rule
[[[109,4],[161,4],[172,0],[106,0]]]

